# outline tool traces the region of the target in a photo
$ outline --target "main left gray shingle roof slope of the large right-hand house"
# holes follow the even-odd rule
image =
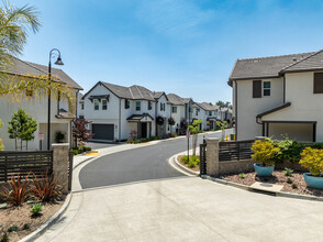
[[[237,59],[230,80],[278,77],[281,69],[315,54],[315,52],[259,58]]]

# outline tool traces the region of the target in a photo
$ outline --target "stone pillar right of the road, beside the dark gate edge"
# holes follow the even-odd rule
[[[210,176],[219,176],[219,142],[220,138],[207,139],[207,173]]]

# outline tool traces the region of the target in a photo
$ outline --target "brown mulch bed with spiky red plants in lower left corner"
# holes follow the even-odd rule
[[[51,219],[60,209],[64,200],[65,197],[62,197],[59,201],[43,204],[41,215],[34,218],[31,212],[32,205],[26,202],[19,207],[8,205],[5,209],[0,209],[0,240],[4,233],[9,237],[10,242],[29,235]],[[30,228],[23,230],[24,224]],[[19,228],[18,231],[8,232],[8,229],[13,226]]]

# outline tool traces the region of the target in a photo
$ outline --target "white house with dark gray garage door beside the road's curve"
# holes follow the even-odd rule
[[[83,118],[91,122],[93,140],[121,141],[135,131],[137,138],[156,135],[156,108],[165,103],[142,86],[123,87],[99,81],[85,96]],[[163,101],[164,100],[164,101]],[[165,111],[167,112],[167,111]],[[164,109],[159,113],[164,113]]]

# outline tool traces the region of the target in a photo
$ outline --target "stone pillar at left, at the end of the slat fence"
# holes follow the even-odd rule
[[[62,186],[62,193],[68,194],[68,166],[69,166],[69,144],[52,144],[53,147],[53,172]]]

